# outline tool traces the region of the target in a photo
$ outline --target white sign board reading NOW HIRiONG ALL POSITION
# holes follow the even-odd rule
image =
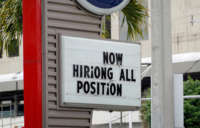
[[[134,110],[141,105],[140,45],[61,36],[61,103]]]

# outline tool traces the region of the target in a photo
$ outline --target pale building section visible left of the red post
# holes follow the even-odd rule
[[[23,45],[0,57],[0,128],[24,126]]]

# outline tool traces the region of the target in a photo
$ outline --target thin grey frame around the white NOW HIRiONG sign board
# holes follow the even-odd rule
[[[108,42],[117,42],[117,43],[126,43],[126,44],[133,44],[133,42],[129,41],[119,41],[119,40],[104,40],[104,39],[96,39],[96,38],[83,38],[77,36],[65,36],[58,34],[59,38],[59,49],[61,48],[61,41],[62,37],[69,37],[69,38],[81,38],[81,39],[89,39],[89,40],[98,40],[98,41],[108,41]],[[141,46],[141,43],[134,42],[134,44]],[[140,56],[141,56],[141,47],[140,47]],[[141,62],[141,61],[140,61]],[[140,83],[140,105],[139,106],[124,106],[124,105],[104,105],[104,104],[84,104],[84,103],[62,103],[62,85],[61,85],[61,50],[59,51],[59,104],[61,107],[72,107],[72,108],[83,108],[83,109],[94,109],[94,110],[109,110],[109,111],[135,111],[139,110],[141,107],[141,81]],[[140,74],[141,75],[141,74]],[[105,108],[106,106],[106,108]]]

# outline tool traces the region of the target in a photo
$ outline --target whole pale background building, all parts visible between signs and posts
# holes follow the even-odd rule
[[[172,0],[172,44],[174,73],[190,74],[200,79],[200,1]],[[150,1],[145,1],[150,7]],[[150,17],[149,17],[150,18]],[[122,15],[112,15],[112,38],[126,40],[126,26],[120,28]],[[151,22],[145,40],[140,40],[142,47],[143,87],[150,87],[151,73]],[[10,57],[0,56],[0,128],[23,126],[23,47],[19,53]],[[94,128],[124,123],[126,127],[130,112],[95,111],[93,114]],[[142,122],[140,112],[131,112],[131,122],[138,125]],[[2,127],[3,126],[3,127]]]

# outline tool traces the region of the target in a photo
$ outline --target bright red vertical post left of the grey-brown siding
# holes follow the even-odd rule
[[[23,0],[25,128],[42,128],[42,1]]]

